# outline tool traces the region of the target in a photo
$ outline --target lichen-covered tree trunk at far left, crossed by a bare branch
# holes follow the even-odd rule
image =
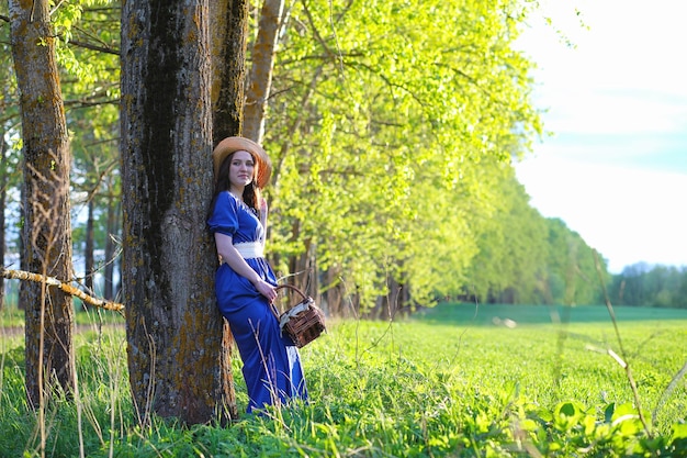
[[[70,156],[49,5],[10,0],[9,7],[24,142],[22,268],[70,281]],[[74,389],[74,306],[70,295],[34,282],[22,282],[20,302],[26,311],[26,391],[36,406],[52,380],[67,393]]]

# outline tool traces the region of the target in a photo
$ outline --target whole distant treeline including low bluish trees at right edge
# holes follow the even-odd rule
[[[639,262],[607,271],[560,219],[544,219],[525,189],[505,180],[494,224],[481,234],[466,289],[458,300],[483,303],[687,308],[687,267]],[[606,291],[606,292],[605,292]]]

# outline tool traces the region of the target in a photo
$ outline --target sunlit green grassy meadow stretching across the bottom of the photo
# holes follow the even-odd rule
[[[617,328],[605,306],[446,303],[331,322],[301,351],[311,402],[229,427],[137,425],[124,331],[91,317],[77,336],[76,401],[43,420],[45,456],[687,456],[687,311],[615,315]],[[0,336],[0,456],[40,456],[23,337]],[[234,369],[243,410],[240,361]]]

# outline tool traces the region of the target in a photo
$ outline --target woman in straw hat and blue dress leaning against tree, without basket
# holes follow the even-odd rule
[[[244,362],[247,412],[305,400],[299,351],[271,310],[277,279],[263,255],[267,203],[260,198],[270,179],[270,159],[257,143],[228,137],[215,147],[213,161],[215,192],[207,224],[221,261],[215,293]]]

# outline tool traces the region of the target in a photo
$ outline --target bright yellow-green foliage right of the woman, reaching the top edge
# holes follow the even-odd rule
[[[539,132],[510,48],[520,8],[294,4],[267,133],[273,249],[314,249],[363,306],[390,278],[420,303],[464,284],[498,170]]]

